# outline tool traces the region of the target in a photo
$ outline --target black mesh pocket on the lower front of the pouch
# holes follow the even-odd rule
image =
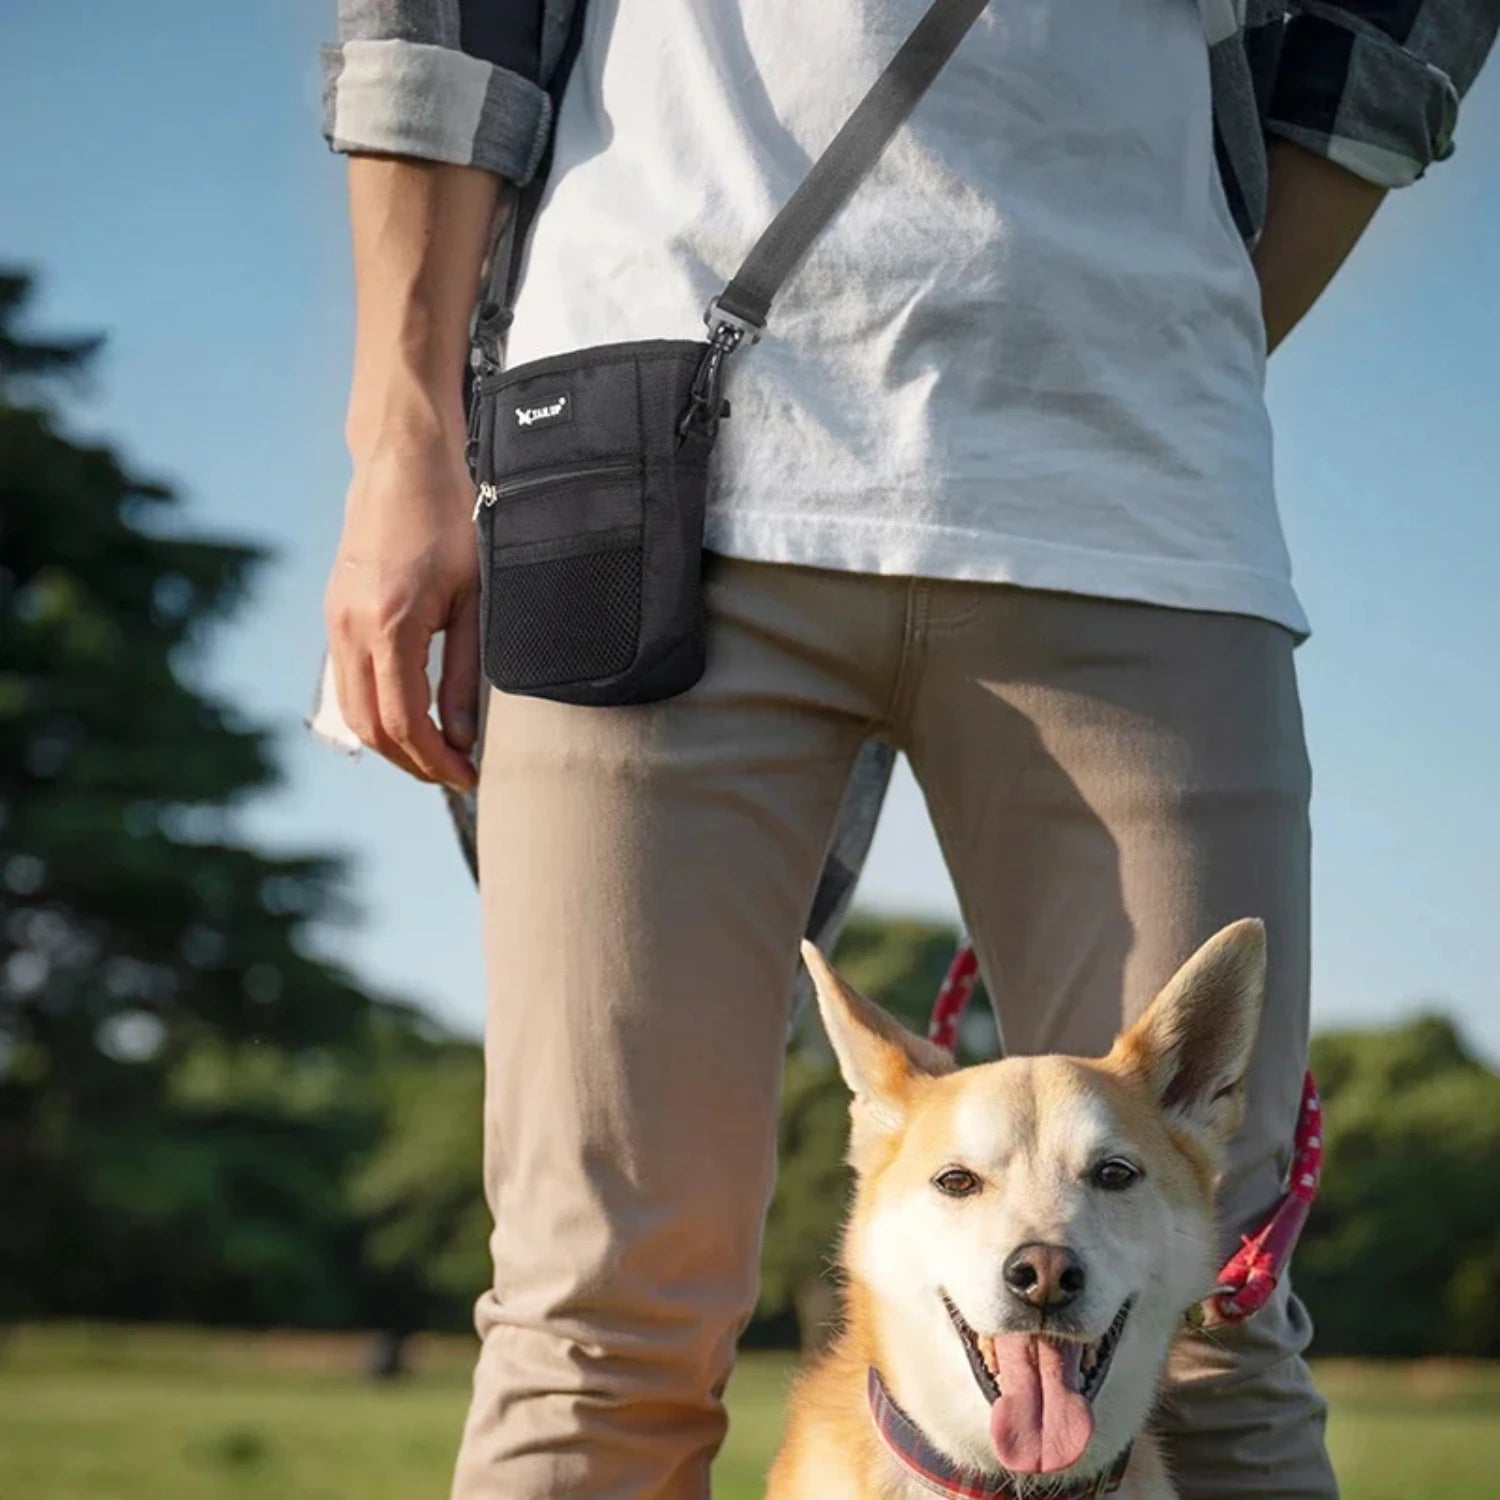
[[[501,688],[622,672],[640,639],[640,546],[494,567],[484,672]]]

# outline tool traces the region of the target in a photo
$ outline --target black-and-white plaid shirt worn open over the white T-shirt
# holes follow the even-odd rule
[[[336,152],[480,166],[525,186],[552,130],[555,74],[588,0],[339,0],[324,48],[324,135]],[[1266,136],[1383,188],[1454,148],[1458,104],[1500,26],[1500,0],[1198,0],[1226,196],[1246,243],[1266,214]],[[580,18],[579,18],[580,20]],[[656,87],[645,80],[642,87]],[[312,728],[357,746],[327,670]],[[807,933],[831,946],[885,798],[894,754],[855,768]],[[474,800],[448,795],[474,864]],[[806,1000],[806,976],[800,981]]]

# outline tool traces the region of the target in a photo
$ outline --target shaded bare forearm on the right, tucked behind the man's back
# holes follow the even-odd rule
[[[1274,350],[1323,296],[1384,198],[1384,189],[1292,141],[1270,142],[1266,228],[1256,274]]]

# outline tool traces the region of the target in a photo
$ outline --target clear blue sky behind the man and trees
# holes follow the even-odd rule
[[[474,1030],[477,914],[435,795],[300,730],[338,537],[351,294],[318,135],[328,4],[6,8],[0,260],[38,326],[106,330],[80,422],[278,561],[207,670],[282,730],[267,842],[352,855],[368,981]],[[1500,1058],[1500,63],[1456,156],[1394,196],[1270,364],[1276,470],[1314,638],[1314,1020],[1440,1000]],[[171,747],[162,747],[164,756]],[[952,912],[903,776],[867,904]]]

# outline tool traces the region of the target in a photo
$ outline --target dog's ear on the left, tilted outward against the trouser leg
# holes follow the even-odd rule
[[[879,1131],[900,1128],[912,1083],[922,1074],[951,1072],[952,1058],[846,984],[810,942],[802,944],[802,962],[856,1114]]]

